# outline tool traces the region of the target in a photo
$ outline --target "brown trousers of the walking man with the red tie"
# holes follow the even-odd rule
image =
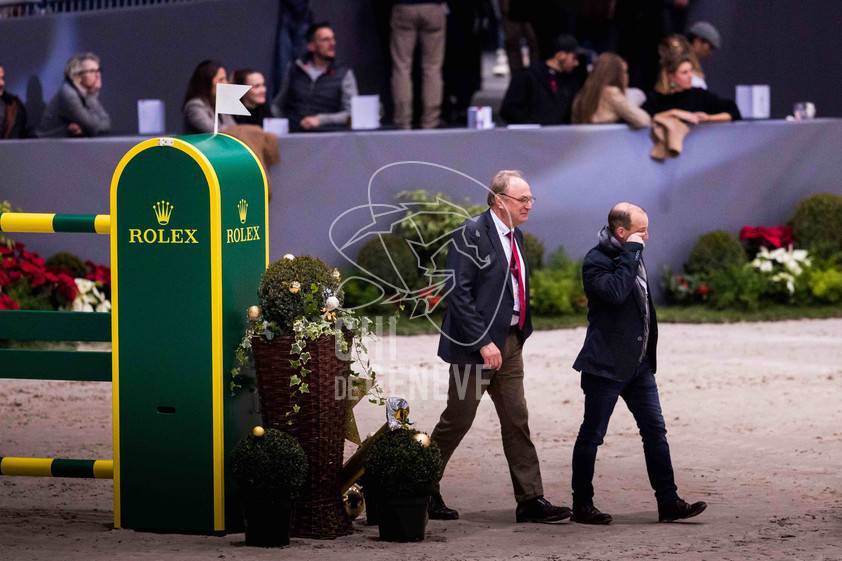
[[[503,452],[509,463],[517,502],[544,494],[538,454],[529,436],[529,413],[523,394],[522,348],[520,338],[513,330],[506,337],[501,351],[503,365],[499,370],[482,370],[482,365],[475,364],[452,364],[447,407],[431,436],[441,449],[446,466],[471,428],[479,402],[488,391],[500,419]]]

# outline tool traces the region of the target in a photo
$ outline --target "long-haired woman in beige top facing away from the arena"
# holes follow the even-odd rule
[[[582,91],[573,102],[574,123],[626,122],[633,128],[648,127],[649,114],[626,98],[629,67],[614,53],[596,59]]]

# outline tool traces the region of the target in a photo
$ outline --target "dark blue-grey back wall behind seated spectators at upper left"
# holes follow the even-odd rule
[[[102,61],[101,101],[113,133],[137,133],[137,100],[162,99],[168,131],[182,130],[181,105],[190,74],[206,58],[229,71],[270,72],[277,0],[206,0],[100,12],[0,19],[0,64],[6,89],[26,103],[30,122],[58,91],[73,53]]]

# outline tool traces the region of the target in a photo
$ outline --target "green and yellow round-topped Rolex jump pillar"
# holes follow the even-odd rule
[[[267,191],[226,135],[156,138],[111,183],[115,526],[239,528],[226,458],[253,426],[225,373],[268,261]]]

